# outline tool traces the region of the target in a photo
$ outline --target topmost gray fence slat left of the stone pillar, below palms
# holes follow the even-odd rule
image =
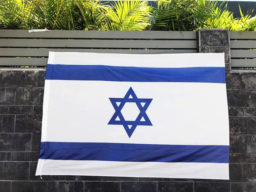
[[[182,34],[181,34],[182,33]],[[47,31],[0,30],[0,38],[70,38],[70,39],[196,39],[196,32],[160,31]]]

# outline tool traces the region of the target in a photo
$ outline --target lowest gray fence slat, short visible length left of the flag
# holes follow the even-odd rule
[[[0,66],[46,66],[48,58],[0,58]]]

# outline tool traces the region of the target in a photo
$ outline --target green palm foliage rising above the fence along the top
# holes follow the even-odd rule
[[[256,31],[251,12],[234,18],[225,1],[0,0],[0,29],[195,31],[200,28]]]

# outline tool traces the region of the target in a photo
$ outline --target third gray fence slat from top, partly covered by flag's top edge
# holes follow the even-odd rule
[[[10,57],[48,57],[54,52],[101,52],[128,54],[195,53],[196,49],[47,49],[47,48],[0,48],[0,56]]]

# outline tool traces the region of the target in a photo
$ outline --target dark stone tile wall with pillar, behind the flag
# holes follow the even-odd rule
[[[0,69],[0,192],[256,192],[256,73],[230,71],[227,35],[201,30],[198,51],[226,53],[230,180],[36,177],[45,71],[12,68]]]

